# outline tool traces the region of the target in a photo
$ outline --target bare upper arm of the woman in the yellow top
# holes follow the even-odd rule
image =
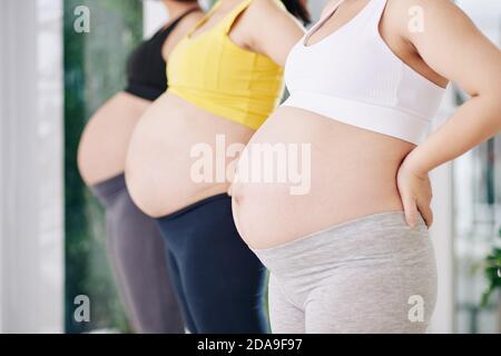
[[[303,37],[301,23],[276,1],[255,0],[247,10],[249,47],[284,67],[294,44]]]

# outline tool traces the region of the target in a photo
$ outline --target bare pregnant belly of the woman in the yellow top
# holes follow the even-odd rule
[[[175,212],[228,190],[234,159],[253,130],[165,93],[134,131],[126,179],[137,206],[151,217]]]

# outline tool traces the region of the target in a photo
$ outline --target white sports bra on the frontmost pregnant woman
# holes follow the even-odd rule
[[[285,66],[291,97],[283,105],[419,145],[445,89],[405,65],[382,39],[386,0],[370,0],[348,23],[306,46],[343,1],[292,49]]]

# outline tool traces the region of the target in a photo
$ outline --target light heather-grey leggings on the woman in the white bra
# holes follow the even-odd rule
[[[376,214],[254,253],[271,270],[273,333],[426,332],[436,267],[422,219]]]

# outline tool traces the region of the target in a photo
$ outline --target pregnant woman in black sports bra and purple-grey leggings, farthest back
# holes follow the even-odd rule
[[[138,333],[183,333],[184,323],[155,222],[130,200],[124,178],[130,135],[151,101],[167,89],[166,59],[200,19],[197,1],[163,0],[174,19],[130,56],[128,86],[85,128],[80,175],[106,207],[108,254],[126,312]]]

